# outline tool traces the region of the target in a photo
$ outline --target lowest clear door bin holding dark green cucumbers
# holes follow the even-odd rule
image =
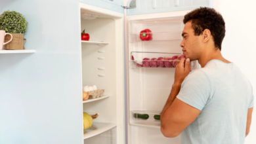
[[[131,111],[131,125],[160,128],[160,113],[161,111]]]

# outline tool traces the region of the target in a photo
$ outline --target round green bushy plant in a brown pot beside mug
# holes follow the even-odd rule
[[[12,41],[5,45],[5,50],[23,50],[26,39],[23,33],[26,32],[28,22],[22,14],[15,11],[5,11],[0,15],[0,30],[12,34]],[[5,41],[11,39],[10,35],[5,36]]]

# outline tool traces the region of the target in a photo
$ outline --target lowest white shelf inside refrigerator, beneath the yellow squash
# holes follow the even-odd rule
[[[91,128],[88,128],[83,131],[83,139],[88,139],[98,134],[102,134],[112,128],[115,128],[116,124],[114,123],[104,123],[104,122],[93,122]]]

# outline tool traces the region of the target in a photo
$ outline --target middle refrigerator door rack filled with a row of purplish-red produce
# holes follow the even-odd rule
[[[168,52],[131,52],[129,67],[135,68],[173,68],[176,67],[184,55]],[[190,62],[191,69],[198,68],[198,62]]]

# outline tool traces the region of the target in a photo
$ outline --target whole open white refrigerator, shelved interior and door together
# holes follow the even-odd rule
[[[83,142],[181,143],[181,135],[161,134],[159,116],[182,55],[182,20],[190,10],[129,15],[79,3],[79,12],[81,31],[90,34],[81,41],[82,84],[104,89],[102,97],[82,103],[83,112],[99,115],[83,130]]]

